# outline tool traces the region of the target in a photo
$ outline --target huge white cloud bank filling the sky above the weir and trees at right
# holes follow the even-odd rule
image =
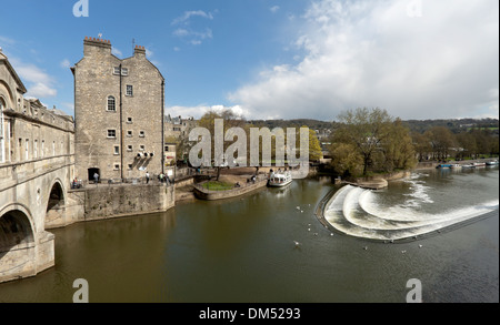
[[[331,120],[358,106],[457,118],[498,108],[498,1],[427,1],[421,18],[408,16],[410,2],[312,2],[294,41],[303,59],[228,98],[253,118]]]

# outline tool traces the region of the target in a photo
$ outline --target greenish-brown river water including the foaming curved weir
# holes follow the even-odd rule
[[[498,167],[429,170],[388,190],[349,190],[348,219],[327,209],[333,234],[314,210],[348,190],[327,177],[80,223],[52,231],[56,267],[1,284],[0,302],[70,303],[77,278],[91,303],[404,303],[410,278],[424,302],[499,302],[498,182]]]

